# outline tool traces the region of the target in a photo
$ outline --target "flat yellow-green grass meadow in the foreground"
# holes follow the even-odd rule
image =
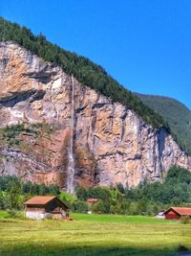
[[[6,218],[0,212],[0,255],[157,256],[191,247],[191,225],[149,217],[72,215],[74,221]]]

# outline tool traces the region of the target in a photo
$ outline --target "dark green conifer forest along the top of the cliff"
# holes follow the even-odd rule
[[[154,128],[167,127],[161,116],[147,105],[143,105],[137,96],[125,89],[109,76],[99,65],[90,59],[77,56],[49,42],[44,35],[32,35],[26,27],[0,18],[0,41],[13,41],[30,50],[32,54],[53,62],[82,84],[88,85],[97,92],[135,110],[138,115]]]

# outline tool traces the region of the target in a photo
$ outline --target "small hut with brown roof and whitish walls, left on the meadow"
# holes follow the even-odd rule
[[[30,219],[65,219],[68,217],[69,207],[56,197],[33,197],[24,204],[26,217]]]

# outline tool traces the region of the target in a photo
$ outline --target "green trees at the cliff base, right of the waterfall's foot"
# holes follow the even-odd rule
[[[144,181],[136,188],[82,188],[76,191],[75,212],[86,212],[122,215],[156,215],[160,210],[170,206],[181,206],[191,202],[191,173],[174,166],[170,168],[163,182]],[[98,198],[90,205],[88,198]],[[188,204],[189,205],[189,204]],[[188,206],[189,207],[189,206]]]

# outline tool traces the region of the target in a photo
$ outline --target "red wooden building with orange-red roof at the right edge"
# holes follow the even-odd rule
[[[191,217],[191,208],[171,207],[164,212],[164,216],[167,220],[179,220],[183,216]]]

